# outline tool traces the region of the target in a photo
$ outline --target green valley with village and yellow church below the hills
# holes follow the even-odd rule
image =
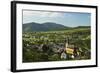
[[[23,32],[23,62],[91,59],[90,34],[90,28]]]

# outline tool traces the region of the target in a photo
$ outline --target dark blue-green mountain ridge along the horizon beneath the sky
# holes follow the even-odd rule
[[[90,26],[78,26],[75,28],[90,28]],[[26,23],[23,24],[23,32],[36,32],[36,31],[57,31],[57,30],[66,30],[66,29],[73,29],[72,27],[67,27],[62,24],[57,24],[53,22],[46,22],[46,23]]]

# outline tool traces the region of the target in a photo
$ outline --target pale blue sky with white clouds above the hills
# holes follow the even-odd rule
[[[53,22],[69,27],[90,26],[91,14],[78,12],[51,12],[23,10],[23,24]]]

